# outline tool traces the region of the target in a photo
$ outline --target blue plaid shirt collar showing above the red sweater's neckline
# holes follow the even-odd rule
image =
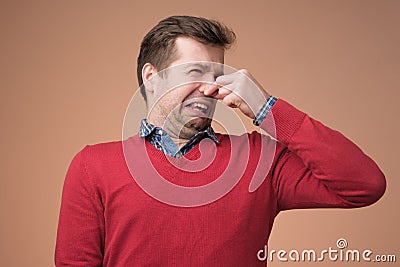
[[[215,143],[219,144],[219,140],[215,135],[214,130],[211,128],[211,126],[208,126],[203,131],[200,131],[192,136],[189,141],[179,149],[165,130],[163,130],[161,127],[156,127],[153,124],[148,123],[146,119],[143,119],[140,122],[139,136],[146,138],[146,140],[148,140],[155,148],[164,152],[164,154],[175,158],[182,157],[188,153],[204,138],[210,138]]]

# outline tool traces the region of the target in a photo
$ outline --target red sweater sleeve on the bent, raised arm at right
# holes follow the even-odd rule
[[[383,173],[341,133],[281,99],[261,127],[273,125],[283,146],[271,169],[279,210],[362,207],[383,195]]]

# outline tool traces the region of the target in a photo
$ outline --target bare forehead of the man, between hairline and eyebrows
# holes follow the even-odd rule
[[[200,43],[189,37],[178,37],[175,40],[176,59],[171,66],[192,62],[209,61],[224,63],[224,48]]]

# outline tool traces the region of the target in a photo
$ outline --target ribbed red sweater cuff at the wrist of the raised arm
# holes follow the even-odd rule
[[[260,127],[279,142],[288,145],[306,116],[288,102],[278,99]]]

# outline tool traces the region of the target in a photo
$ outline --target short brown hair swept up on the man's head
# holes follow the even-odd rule
[[[175,40],[180,36],[223,49],[229,49],[236,40],[235,33],[216,20],[194,16],[171,16],[161,20],[143,38],[137,59],[140,92],[146,101],[142,78],[143,66],[151,63],[158,71],[165,69],[175,60]]]

